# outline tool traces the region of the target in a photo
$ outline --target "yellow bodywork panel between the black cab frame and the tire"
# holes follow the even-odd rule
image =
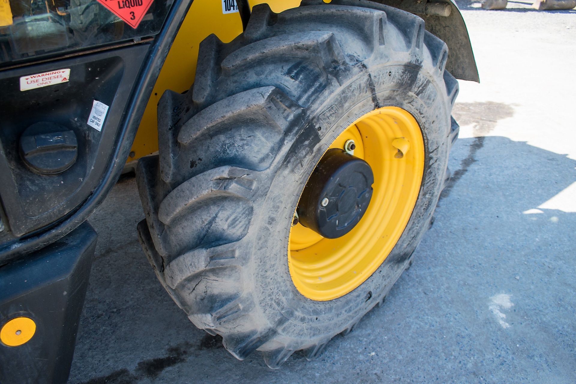
[[[1,2],[2,0],[0,0]],[[300,0],[250,1],[250,5],[268,3],[270,8],[278,13],[297,7]],[[229,43],[242,33],[242,21],[239,13],[222,13],[221,0],[194,0],[187,16],[184,18],[180,31],[168,52],[166,61],[152,94],[146,105],[146,111],[132,144],[128,162],[154,153],[158,150],[158,121],[156,108],[165,90],[184,92],[190,89],[196,74],[198,48],[200,41],[212,33],[224,43]]]

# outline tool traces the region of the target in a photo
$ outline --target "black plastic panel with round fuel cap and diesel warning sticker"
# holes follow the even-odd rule
[[[98,185],[114,161],[118,125],[148,48],[0,71],[0,199],[14,236],[62,218]],[[26,84],[31,76],[47,73],[54,74],[39,81],[55,76],[54,84],[22,90],[34,86]],[[90,117],[101,120],[100,131]]]

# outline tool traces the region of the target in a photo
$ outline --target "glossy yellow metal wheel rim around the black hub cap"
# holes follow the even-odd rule
[[[374,174],[373,195],[353,230],[328,239],[302,226],[291,227],[288,265],[292,282],[309,299],[346,295],[380,267],[403,233],[418,199],[424,171],[424,140],[418,123],[404,109],[382,107],[359,117],[332,142],[354,155]]]

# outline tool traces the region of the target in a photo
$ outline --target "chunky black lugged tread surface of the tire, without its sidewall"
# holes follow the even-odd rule
[[[278,324],[256,321],[252,287],[242,277],[248,256],[240,250],[251,230],[252,199],[264,188],[260,175],[293,134],[290,121],[329,85],[365,71],[363,60],[400,52],[401,60],[419,66],[426,50],[426,65],[444,79],[453,105],[458,85],[444,70],[448,49],[425,32],[421,18],[364,0],[333,0],[330,6],[308,0],[281,14],[257,5],[246,31],[231,43],[211,35],[200,44],[191,92],[162,96],[160,154],[141,159],[137,170],[146,214],[139,239],[170,296],[196,326],[221,334],[236,358],[261,349],[266,364],[278,368],[300,349],[306,359],[316,358],[329,341],[294,344],[276,337],[287,317]],[[254,75],[278,63],[283,73]],[[310,73],[313,82],[306,81]],[[450,145],[456,136],[452,119]],[[385,293],[366,311],[381,305]],[[340,332],[351,332],[363,314]]]

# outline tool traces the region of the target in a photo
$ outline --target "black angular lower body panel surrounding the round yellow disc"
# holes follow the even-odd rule
[[[0,383],[67,381],[95,247],[96,232],[84,223],[0,268],[0,326],[17,317],[36,324],[28,342],[0,343]]]

